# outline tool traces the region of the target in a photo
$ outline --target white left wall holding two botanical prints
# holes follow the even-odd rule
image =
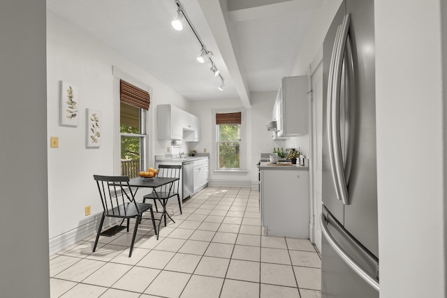
[[[166,150],[165,141],[156,140],[156,105],[172,103],[185,109],[189,103],[177,92],[135,66],[100,40],[82,29],[73,27],[61,17],[47,12],[47,133],[59,137],[59,148],[47,149],[48,211],[50,251],[70,245],[85,237],[94,228],[94,220],[102,212],[93,174],[114,174],[114,94],[112,66],[152,87],[149,132],[153,166],[154,154]],[[59,81],[79,89],[80,125],[59,126]],[[85,144],[87,107],[102,112],[102,144],[87,149]],[[91,205],[92,216],[84,207]]]

